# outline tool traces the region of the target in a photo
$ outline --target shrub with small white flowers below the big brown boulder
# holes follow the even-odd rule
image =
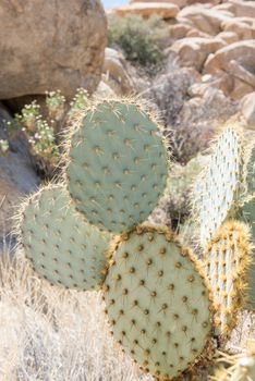
[[[70,105],[66,105],[60,90],[46,91],[44,116],[41,107],[33,100],[29,105],[25,105],[12,121],[7,122],[9,138],[19,131],[25,134],[34,165],[41,177],[51,179],[54,175],[60,164],[58,133],[63,125],[70,123],[76,111],[86,107],[87,102],[88,95],[83,88],[77,89]],[[0,140],[0,153],[5,153],[7,147],[9,148],[9,142]]]

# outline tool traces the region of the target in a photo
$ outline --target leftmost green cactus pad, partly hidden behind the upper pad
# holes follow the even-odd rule
[[[22,209],[20,241],[40,276],[66,288],[101,285],[111,235],[88,224],[63,187],[41,188]]]

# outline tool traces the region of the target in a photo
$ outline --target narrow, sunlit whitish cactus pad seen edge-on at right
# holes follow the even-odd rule
[[[208,168],[195,186],[195,214],[205,248],[227,218],[234,213],[241,190],[243,143],[236,127],[226,127],[214,147]],[[201,195],[197,195],[197,189]]]

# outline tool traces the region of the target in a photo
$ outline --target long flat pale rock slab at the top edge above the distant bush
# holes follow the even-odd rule
[[[129,5],[118,7],[111,13],[118,16],[138,14],[142,17],[158,15],[162,19],[173,19],[179,12],[179,7],[170,2],[134,2]]]

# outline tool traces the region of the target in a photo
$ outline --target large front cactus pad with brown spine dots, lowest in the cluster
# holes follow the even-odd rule
[[[201,358],[214,307],[172,232],[137,226],[119,238],[104,290],[116,340],[146,371],[169,380]]]

